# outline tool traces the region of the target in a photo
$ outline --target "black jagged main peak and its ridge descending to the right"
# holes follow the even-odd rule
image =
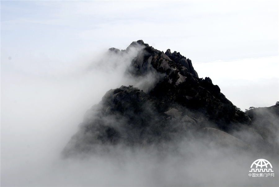
[[[144,43],[141,40],[138,42],[140,45]],[[250,118],[234,106],[220,92],[220,88],[212,84],[210,78],[198,78],[191,60],[186,59],[179,52],[171,53],[168,49],[164,54],[145,45],[131,62],[130,72],[139,76],[149,71],[165,74],[149,93],[157,99],[167,104],[175,102],[202,111],[225,131],[230,130],[236,123],[247,125],[251,123]]]

